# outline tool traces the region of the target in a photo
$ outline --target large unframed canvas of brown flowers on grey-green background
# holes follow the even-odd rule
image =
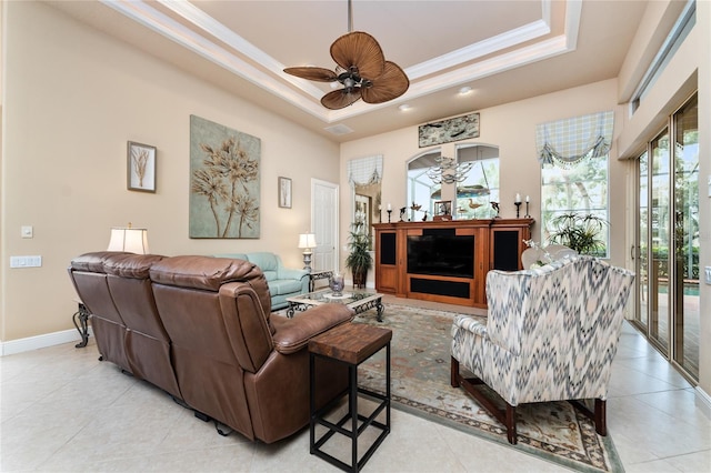
[[[261,140],[190,115],[190,238],[260,231]]]

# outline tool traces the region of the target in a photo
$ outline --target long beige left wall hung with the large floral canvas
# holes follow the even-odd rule
[[[153,253],[264,250],[302,265],[311,178],[338,182],[337,144],[43,3],[6,7],[2,341],[71,329],[69,261],[128,222],[149,229]],[[188,238],[190,114],[261,139],[260,239]],[[154,194],[126,189],[129,140],[158,148]],[[292,179],[292,209],[277,204],[279,175]],[[36,254],[41,268],[9,268],[10,255]]]

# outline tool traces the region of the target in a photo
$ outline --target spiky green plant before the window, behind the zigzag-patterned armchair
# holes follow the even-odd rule
[[[548,238],[550,243],[564,244],[579,254],[600,255],[604,251],[604,241],[598,235],[608,224],[604,219],[591,213],[561,213],[551,220],[553,231]]]

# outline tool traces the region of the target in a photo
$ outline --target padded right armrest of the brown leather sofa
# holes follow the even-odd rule
[[[356,313],[343,304],[323,304],[297,313],[293,319],[272,316],[274,349],[282,354],[306,348],[313,336],[349,322]]]

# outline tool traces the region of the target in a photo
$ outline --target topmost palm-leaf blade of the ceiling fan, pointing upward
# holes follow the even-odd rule
[[[333,41],[331,58],[346,70],[356,66],[360,77],[370,80],[382,74],[385,63],[375,38],[362,31],[352,31]]]

